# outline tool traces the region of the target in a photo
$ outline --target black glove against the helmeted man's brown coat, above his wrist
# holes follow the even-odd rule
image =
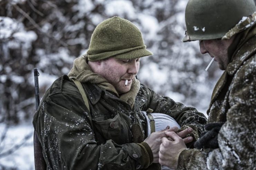
[[[209,123],[205,125],[205,131],[203,131],[200,135],[200,139],[198,139],[194,146],[197,149],[216,149],[219,148],[218,145],[218,134],[219,130],[225,122],[218,123]]]

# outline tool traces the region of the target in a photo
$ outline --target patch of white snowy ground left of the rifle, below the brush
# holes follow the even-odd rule
[[[4,124],[0,124],[0,135],[6,130]],[[33,147],[34,128],[32,121],[16,126],[10,126],[7,130],[6,138],[0,139],[0,169],[4,166],[6,169],[34,170],[34,147]],[[8,151],[14,145],[20,144],[25,136],[28,140],[15,152],[1,157],[1,154]]]

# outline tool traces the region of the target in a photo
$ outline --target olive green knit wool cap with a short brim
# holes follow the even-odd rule
[[[120,17],[112,17],[98,24],[87,51],[89,61],[108,57],[136,59],[148,55],[153,54],[146,50],[140,30]]]

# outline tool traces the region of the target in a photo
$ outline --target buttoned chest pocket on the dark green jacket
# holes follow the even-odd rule
[[[116,144],[126,144],[130,139],[130,129],[124,123],[119,114],[111,119],[94,121],[96,129],[106,140],[113,140]]]

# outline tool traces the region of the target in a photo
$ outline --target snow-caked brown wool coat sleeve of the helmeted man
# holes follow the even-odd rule
[[[178,169],[254,169],[256,166],[255,57],[230,85],[227,121],[218,134],[218,149],[181,152]],[[214,113],[211,113],[214,114]]]

